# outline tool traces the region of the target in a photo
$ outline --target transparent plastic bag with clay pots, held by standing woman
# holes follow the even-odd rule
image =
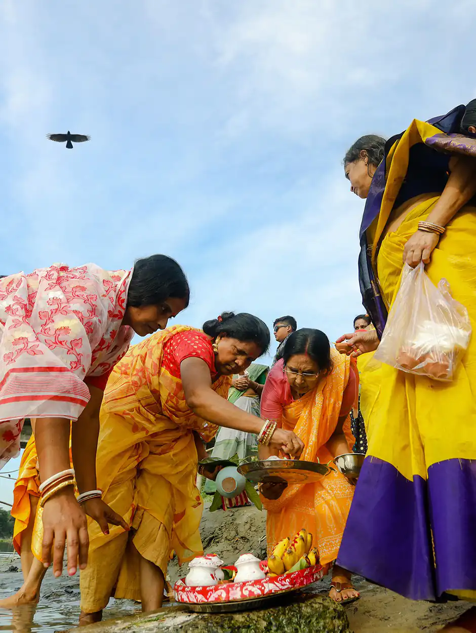
[[[436,287],[423,263],[405,264],[374,358],[403,372],[449,381],[470,337],[468,311],[451,297],[448,281],[441,279]]]

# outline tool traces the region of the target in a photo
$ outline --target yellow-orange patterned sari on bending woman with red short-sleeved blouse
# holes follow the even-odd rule
[[[174,354],[187,338],[188,356],[208,362],[211,341],[177,325],[130,348],[111,373],[101,407],[97,485],[130,532],[111,526],[104,535],[89,523],[89,562],[81,572],[81,608],[102,610],[113,594],[139,601],[140,556],[166,574],[171,551],[180,563],[203,553],[199,534],[203,501],[196,487],[194,432],[208,441],[218,427],[197,417],[185,402]],[[177,341],[182,341],[177,343]],[[212,389],[227,398],[230,377]],[[140,556],[139,556],[140,555]]]

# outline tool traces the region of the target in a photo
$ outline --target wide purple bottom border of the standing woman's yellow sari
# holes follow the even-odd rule
[[[475,526],[476,461],[435,463],[410,481],[368,457],[337,563],[415,600],[476,591]]]

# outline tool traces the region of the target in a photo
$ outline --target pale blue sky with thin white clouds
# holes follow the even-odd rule
[[[178,322],[334,341],[363,310],[344,153],[476,97],[475,26],[471,0],[3,0],[0,273],[165,253]]]

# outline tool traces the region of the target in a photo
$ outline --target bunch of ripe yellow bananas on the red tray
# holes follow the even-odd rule
[[[279,541],[268,558],[269,572],[272,575],[280,575],[317,565],[319,554],[316,548],[311,549],[312,542],[312,534],[308,534],[304,529],[299,530],[292,541],[289,537]]]

